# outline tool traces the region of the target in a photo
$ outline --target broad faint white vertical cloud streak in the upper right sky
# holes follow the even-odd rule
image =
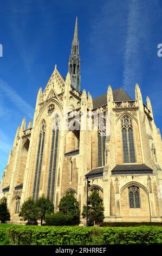
[[[123,83],[128,93],[137,82],[142,86],[143,61],[148,55],[152,29],[159,15],[159,1],[129,2],[127,35],[124,53]]]

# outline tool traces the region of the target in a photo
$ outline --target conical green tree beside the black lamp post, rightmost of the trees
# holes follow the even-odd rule
[[[89,225],[99,224],[103,222],[104,218],[104,207],[102,198],[99,196],[97,190],[93,190],[93,192],[88,197],[89,205],[88,205],[88,223]],[[83,206],[82,217],[87,217],[87,206]]]

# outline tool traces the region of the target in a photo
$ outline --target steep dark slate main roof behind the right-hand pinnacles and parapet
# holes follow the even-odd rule
[[[114,101],[129,101],[132,98],[121,87],[113,90]],[[107,93],[93,99],[93,108],[97,108],[107,104]]]

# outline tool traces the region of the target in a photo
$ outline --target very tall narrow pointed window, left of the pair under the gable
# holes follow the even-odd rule
[[[40,178],[41,178],[41,170],[42,170],[45,132],[46,132],[46,121],[43,120],[42,124],[41,124],[41,130],[40,130],[40,136],[39,136],[39,142],[38,142],[34,188],[33,188],[33,198],[34,199],[38,199],[38,193],[39,193],[39,188],[40,188]]]

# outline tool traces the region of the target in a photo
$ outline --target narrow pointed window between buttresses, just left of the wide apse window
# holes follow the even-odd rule
[[[98,131],[98,167],[105,166],[105,141],[106,130]]]

